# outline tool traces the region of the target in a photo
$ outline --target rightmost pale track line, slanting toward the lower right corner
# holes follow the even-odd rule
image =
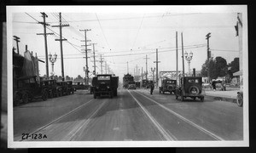
[[[136,92],[136,93],[137,93],[137,94],[140,94],[139,92]],[[166,106],[159,104],[159,103],[156,102],[154,99],[150,99],[150,98],[148,98],[147,96],[145,96],[145,95],[143,95],[143,94],[141,94],[141,95],[142,95],[143,97],[145,97],[145,98],[147,98],[147,99],[153,101],[155,104],[160,105],[160,107],[162,107],[162,108],[165,109],[166,111],[171,112],[173,115],[175,115],[175,116],[177,116],[178,118],[182,119],[184,122],[188,122],[190,125],[192,125],[192,126],[198,128],[199,130],[201,130],[201,132],[207,133],[207,134],[210,135],[213,139],[224,140],[223,138],[219,137],[218,135],[216,135],[216,134],[214,134],[214,133],[208,131],[206,128],[201,127],[201,126],[195,124],[195,122],[189,121],[189,119],[187,119],[187,118],[185,118],[185,117],[183,117],[183,116],[177,114],[177,112],[174,112],[174,111],[168,109]]]

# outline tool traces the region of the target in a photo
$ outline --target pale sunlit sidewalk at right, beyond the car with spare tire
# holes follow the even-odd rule
[[[233,102],[236,103],[236,95],[237,92],[239,92],[240,90],[228,90],[228,91],[213,91],[210,89],[205,89],[205,93],[207,97],[211,97],[213,99],[216,100],[221,100],[221,101],[229,101],[229,102]]]

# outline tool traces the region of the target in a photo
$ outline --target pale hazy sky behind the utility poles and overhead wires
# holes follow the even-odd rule
[[[131,8],[132,9],[132,8]],[[52,27],[59,25],[58,11],[45,11],[48,15],[46,22],[50,25],[47,32],[55,35],[47,37],[48,53],[57,54],[55,62],[55,75],[61,76],[61,49],[60,29]],[[44,36],[37,33],[44,32],[44,26],[38,24],[43,21],[40,11],[21,11],[12,15],[12,35],[20,37],[20,54],[24,54],[25,45],[39,59],[45,60]],[[61,12],[62,23],[69,26],[62,27],[62,37],[67,38],[63,42],[64,73],[65,76],[85,76],[85,54],[81,49],[84,45],[84,29],[87,31],[87,39],[96,43],[96,72],[101,73],[100,54],[107,62],[108,67],[116,76],[123,77],[127,73],[134,74],[136,68],[141,72],[146,71],[146,54],[148,56],[148,73],[155,67],[155,50],[159,51],[159,71],[176,71],[176,32],[178,46],[178,69],[182,70],[182,41],[183,33],[184,52],[192,52],[190,62],[191,70],[201,71],[201,65],[207,59],[206,35],[211,32],[209,46],[213,57],[221,56],[230,63],[239,56],[238,37],[236,37],[237,13],[202,13],[196,11],[162,12],[134,11],[124,12]],[[90,43],[90,42],[88,42]],[[13,41],[12,47],[16,48]],[[88,56],[89,70],[93,71],[92,46]],[[105,63],[103,73],[105,72]],[[44,76],[45,64],[39,62],[40,76]],[[185,72],[189,71],[188,62],[184,61]],[[49,63],[49,73],[51,72]],[[91,73],[90,73],[91,75]]]

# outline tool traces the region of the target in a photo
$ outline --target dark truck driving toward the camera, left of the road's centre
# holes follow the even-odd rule
[[[117,88],[119,87],[119,77],[104,74],[97,75],[92,79],[93,97],[108,95],[110,98],[117,96]]]

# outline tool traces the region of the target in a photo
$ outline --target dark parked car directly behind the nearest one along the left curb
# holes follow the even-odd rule
[[[49,99],[62,95],[62,88],[57,84],[57,81],[54,79],[42,80],[40,82],[40,85],[42,88],[46,89]]]

